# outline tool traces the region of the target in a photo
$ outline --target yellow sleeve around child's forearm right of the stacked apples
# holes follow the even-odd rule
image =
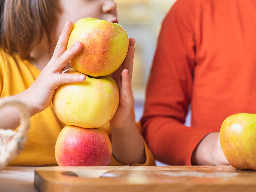
[[[140,122],[136,122],[136,125],[141,133],[141,125],[140,125]],[[141,136],[142,137],[142,136]],[[146,165],[155,165],[155,159],[154,159],[154,156],[152,154],[152,152],[150,151],[150,149],[148,148],[148,145],[146,143],[146,141],[144,140],[144,138],[142,137],[143,139],[143,142],[144,142],[144,149],[145,149],[145,154],[146,154],[146,162],[144,164],[137,164],[137,163],[134,163],[132,165],[140,165],[140,166],[146,166]],[[125,164],[121,164],[119,163],[113,155],[111,155],[111,160],[110,160],[110,163],[109,163],[110,166],[124,166]]]

